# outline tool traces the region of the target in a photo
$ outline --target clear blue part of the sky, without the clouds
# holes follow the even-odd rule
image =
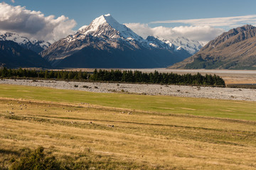
[[[94,18],[106,13],[111,13],[120,23],[151,23],[256,14],[255,0],[15,0],[15,3],[5,2],[15,6],[26,6],[29,10],[41,11],[46,16],[68,16],[78,23],[76,28],[87,25]],[[152,24],[152,26],[159,25]],[[181,24],[164,26],[178,25]]]

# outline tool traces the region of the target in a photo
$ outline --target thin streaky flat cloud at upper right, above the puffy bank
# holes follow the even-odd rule
[[[231,16],[221,18],[201,18],[201,19],[189,19],[189,20],[169,20],[169,21],[154,21],[151,23],[186,23],[191,26],[228,26],[234,28],[234,26],[242,26],[245,24],[256,24],[256,15],[250,16]]]

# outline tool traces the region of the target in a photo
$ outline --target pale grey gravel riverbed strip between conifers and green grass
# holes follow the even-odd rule
[[[238,101],[256,101],[256,89],[235,89],[204,86],[177,86],[160,84],[117,84],[76,81],[45,81],[27,79],[1,79],[0,84],[44,86],[54,89],[91,91],[97,93],[132,93],[146,95],[217,98]],[[1,93],[1,92],[0,92]]]

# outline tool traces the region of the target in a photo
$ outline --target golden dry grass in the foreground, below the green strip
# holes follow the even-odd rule
[[[1,99],[1,164],[43,146],[63,160],[134,169],[256,169],[255,121],[72,105]]]

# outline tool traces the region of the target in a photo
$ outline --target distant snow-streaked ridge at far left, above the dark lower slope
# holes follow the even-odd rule
[[[32,50],[36,53],[46,50],[46,48],[50,46],[50,42],[45,42],[43,40],[29,40],[28,38],[16,33],[5,33],[0,35],[0,40],[11,40],[18,43],[18,45],[21,45],[21,47]]]

